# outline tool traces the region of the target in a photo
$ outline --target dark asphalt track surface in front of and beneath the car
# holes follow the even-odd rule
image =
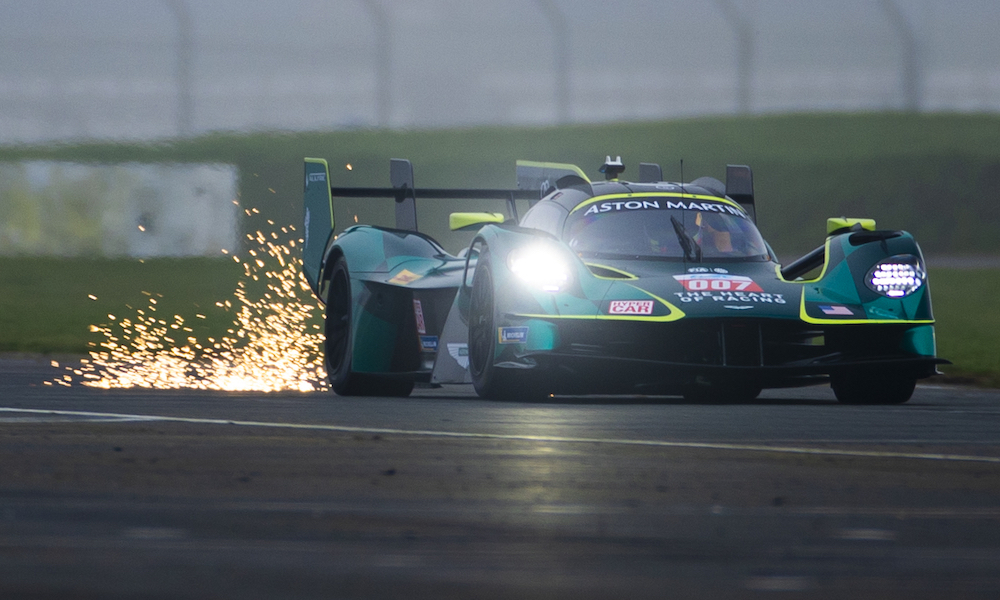
[[[0,360],[0,598],[997,598],[1000,391],[843,406],[46,386]]]

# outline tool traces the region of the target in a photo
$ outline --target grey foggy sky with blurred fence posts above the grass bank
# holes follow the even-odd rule
[[[994,0],[0,0],[0,143],[1000,110]]]

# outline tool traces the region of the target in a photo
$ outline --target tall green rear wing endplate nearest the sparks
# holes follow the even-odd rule
[[[320,269],[326,242],[333,232],[333,196],[330,194],[330,166],[322,158],[305,159],[304,242],[302,271],[314,292],[319,290]]]

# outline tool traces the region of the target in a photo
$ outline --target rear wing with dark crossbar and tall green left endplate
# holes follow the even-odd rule
[[[334,198],[392,198],[396,201],[396,229],[417,231],[417,198],[421,200],[506,200],[508,217],[517,220],[517,200],[537,200],[538,192],[522,189],[417,188],[413,184],[413,165],[409,160],[393,158],[389,162],[392,187],[332,187],[330,167],[325,159],[305,159],[305,239],[303,271],[316,289],[330,236],[336,228]]]

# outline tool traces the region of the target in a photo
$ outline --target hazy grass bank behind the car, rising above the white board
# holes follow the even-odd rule
[[[1000,239],[1000,115],[819,114],[699,118],[544,128],[213,134],[151,144],[0,148],[0,161],[221,161],[240,170],[244,206],[299,223],[302,158],[330,160],[336,185],[388,185],[389,158],[413,161],[420,186],[513,186],[519,158],[570,162],[591,177],[606,154],[636,174],[660,162],[668,179],[724,178],[727,163],[754,169],[760,226],[782,256],[817,246],[831,216],[875,218],[913,232],[925,253],[995,253]],[[348,171],[345,165],[350,163]],[[442,207],[421,203],[420,222],[446,246]],[[502,204],[497,206],[502,210]],[[468,210],[468,207],[465,207]],[[484,210],[486,207],[483,208]],[[340,207],[340,223],[391,219],[391,203]]]

